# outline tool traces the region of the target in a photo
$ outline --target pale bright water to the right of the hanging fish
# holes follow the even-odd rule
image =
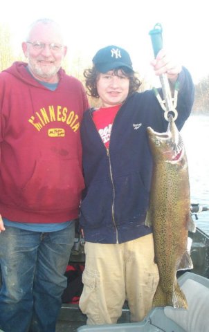
[[[190,116],[181,135],[188,156],[191,203],[209,208],[209,116]],[[209,235],[209,211],[198,214],[196,225]]]

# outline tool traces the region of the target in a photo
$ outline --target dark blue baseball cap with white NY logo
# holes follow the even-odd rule
[[[133,71],[131,58],[127,50],[115,45],[98,50],[92,61],[100,73],[107,73],[107,71],[112,71],[118,67],[127,67]]]

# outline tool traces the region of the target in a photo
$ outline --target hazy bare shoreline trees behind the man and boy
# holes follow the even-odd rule
[[[13,62],[18,60],[24,61],[24,55],[15,55],[11,42],[10,29],[8,26],[0,24],[0,71],[8,68]],[[69,66],[69,63],[65,59],[63,67],[66,73],[77,77],[84,83],[83,71],[87,66],[82,62],[82,57],[79,54],[72,60],[71,66]],[[143,82],[142,86],[140,86],[140,91],[147,89],[149,86],[149,82]],[[89,103],[94,107],[98,106],[98,100],[93,100],[90,97]],[[209,74],[195,84],[192,113],[209,115]]]

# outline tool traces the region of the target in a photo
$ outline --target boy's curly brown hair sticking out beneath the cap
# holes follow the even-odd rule
[[[128,97],[129,97],[129,95],[132,95],[134,92],[138,91],[138,89],[141,85],[141,82],[136,77],[136,73],[134,71],[131,71],[129,68],[127,68],[125,66],[114,69],[113,70],[114,75],[118,76],[119,70],[122,71],[123,75],[125,75],[126,77],[129,78],[129,93],[128,93]],[[98,95],[97,87],[96,87],[96,83],[97,83],[99,75],[100,75],[100,72],[96,69],[95,66],[93,66],[92,68],[86,69],[84,71],[84,77],[86,78],[85,84],[89,91],[89,93],[87,92],[87,94],[91,95],[91,97],[94,97],[94,98],[100,98],[100,96]]]

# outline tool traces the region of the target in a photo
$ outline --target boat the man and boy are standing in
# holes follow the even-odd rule
[[[198,219],[199,213],[208,211],[209,208],[199,204],[191,205],[191,213],[194,219]],[[188,243],[190,255],[192,257],[193,269],[186,271],[179,271],[177,278],[180,286],[187,280],[193,280],[200,285],[208,288],[208,302],[209,305],[209,234],[203,232],[197,227],[196,232],[189,232]],[[69,264],[84,264],[84,241],[79,237],[75,238],[75,245],[70,257]],[[197,288],[197,287],[196,287]],[[196,289],[194,287],[194,289]],[[166,307],[167,308],[167,307]],[[176,309],[174,309],[176,310]],[[179,310],[179,309],[177,309]],[[180,309],[181,311],[181,309]],[[208,317],[209,319],[209,317]],[[65,303],[62,304],[60,317],[57,322],[56,332],[185,332],[179,324],[171,320],[164,313],[164,308],[152,308],[143,322],[131,323],[130,314],[127,303],[125,302],[122,308],[122,315],[117,324],[88,326],[86,324],[87,317],[82,314],[78,304]],[[209,324],[209,322],[208,322]],[[191,330],[192,331],[192,330]],[[196,329],[195,332],[206,332],[207,330]],[[188,331],[187,331],[188,332]]]

